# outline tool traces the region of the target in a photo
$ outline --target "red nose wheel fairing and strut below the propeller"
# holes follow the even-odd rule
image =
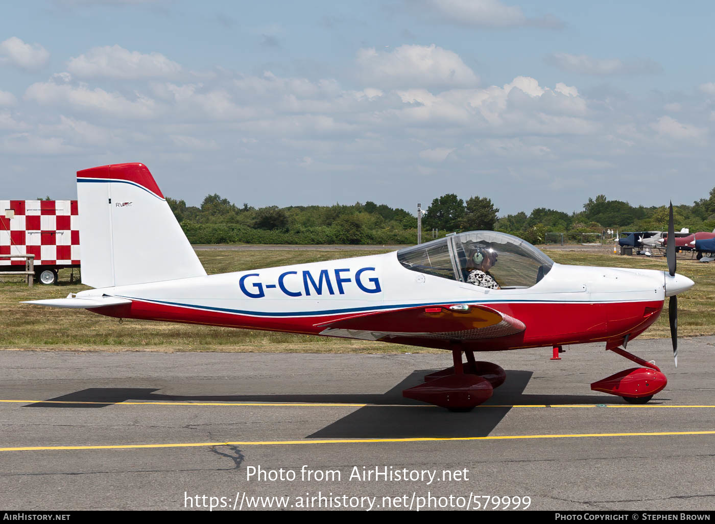
[[[646,360],[636,357],[636,355],[627,352],[621,347],[608,347],[606,345],[606,350],[618,353],[621,357],[626,357],[628,360],[632,360],[644,367],[631,367],[631,369],[623,370],[603,380],[593,382],[591,384],[593,391],[618,395],[631,404],[645,404],[668,384],[666,375],[655,364],[646,362]]]

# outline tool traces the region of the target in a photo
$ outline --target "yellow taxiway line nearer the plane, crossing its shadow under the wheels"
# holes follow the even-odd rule
[[[2,400],[15,404],[89,404],[89,405],[160,405],[160,406],[250,406],[250,407],[438,407],[430,404],[353,404],[349,402],[128,402],[105,400]],[[708,404],[483,404],[476,407],[715,407]]]

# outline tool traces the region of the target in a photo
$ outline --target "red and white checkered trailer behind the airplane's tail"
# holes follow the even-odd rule
[[[0,271],[24,271],[34,254],[35,279],[57,281],[57,270],[79,267],[77,200],[0,200]]]

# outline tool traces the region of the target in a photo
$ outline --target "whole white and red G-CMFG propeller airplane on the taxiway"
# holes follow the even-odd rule
[[[561,346],[585,342],[606,342],[640,366],[594,382],[593,390],[648,402],[666,377],[623,348],[671,297],[677,365],[676,295],[694,282],[676,274],[673,242],[668,272],[556,264],[522,239],[474,231],[385,254],[207,275],[143,164],[79,171],[77,195],[82,282],[94,289],[30,304],[449,350],[453,367],[403,395],[470,410],[506,378],[474,352],[552,347],[558,359]],[[480,265],[485,258],[489,264]]]

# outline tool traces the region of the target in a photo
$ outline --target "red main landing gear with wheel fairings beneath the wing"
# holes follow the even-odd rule
[[[474,360],[474,352],[452,350],[454,365],[425,375],[425,383],[403,391],[403,397],[446,407],[450,411],[471,411],[489,400],[495,387],[506,380],[506,372],[491,362]]]

